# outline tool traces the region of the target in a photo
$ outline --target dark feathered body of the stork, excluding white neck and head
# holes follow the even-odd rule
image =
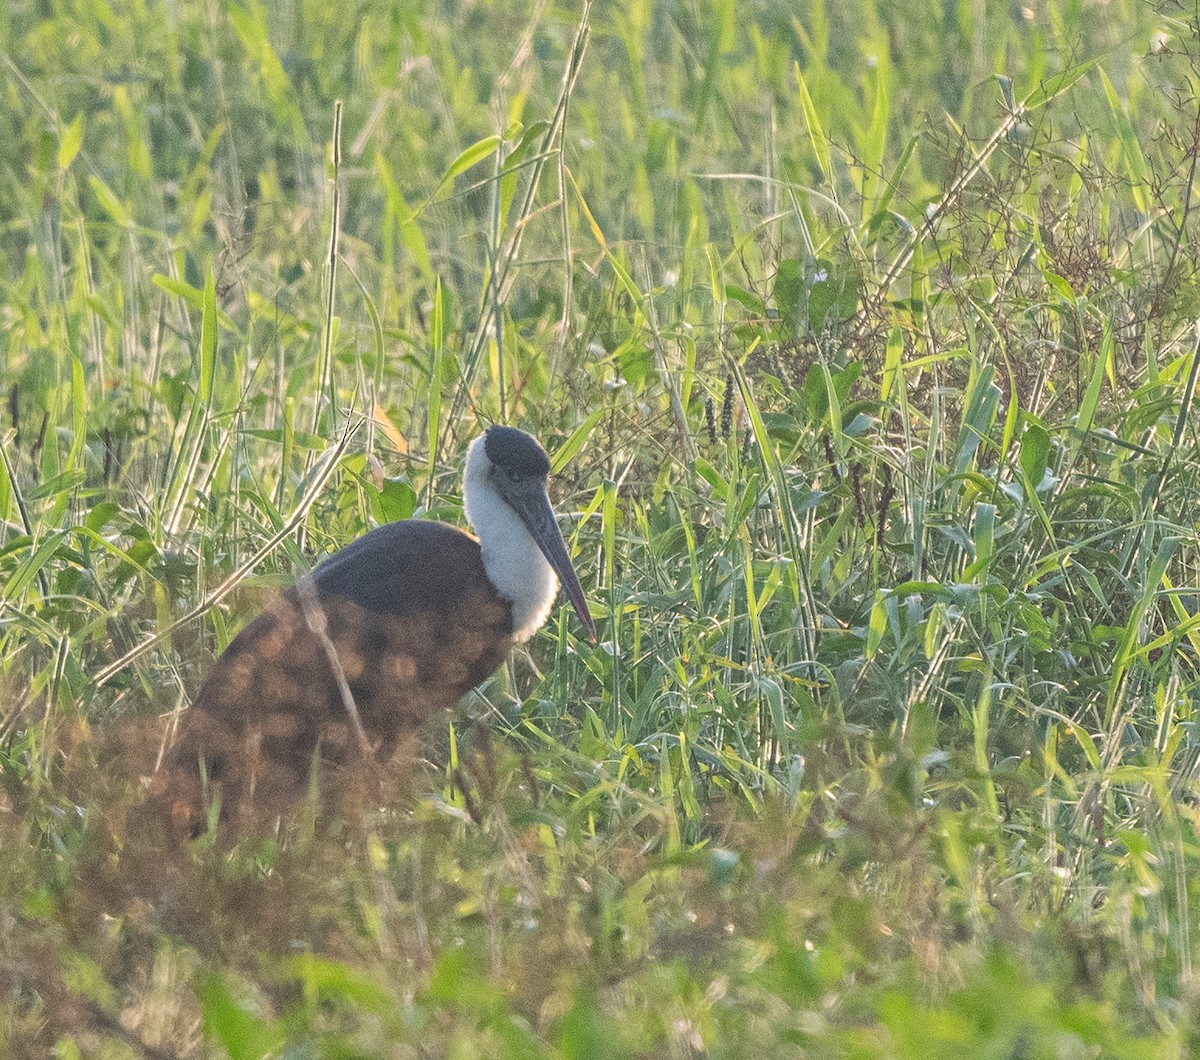
[[[216,661],[155,779],[185,831],[269,819],[350,761],[382,763],[511,646],[479,543],[443,523],[372,531],[251,622]]]

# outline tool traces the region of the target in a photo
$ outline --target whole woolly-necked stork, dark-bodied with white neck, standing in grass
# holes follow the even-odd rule
[[[475,529],[408,519],[319,563],[214,664],[150,783],[174,827],[245,830],[280,815],[323,773],[390,760],[545,623],[559,583],[588,610],[532,436],[492,426],[467,449]],[[318,774],[318,778],[323,774]]]

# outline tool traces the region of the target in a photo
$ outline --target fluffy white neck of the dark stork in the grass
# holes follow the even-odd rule
[[[484,569],[496,591],[512,604],[512,639],[529,640],[546,621],[558,594],[558,577],[521,517],[497,492],[484,437],[467,450],[463,508],[479,537]]]

